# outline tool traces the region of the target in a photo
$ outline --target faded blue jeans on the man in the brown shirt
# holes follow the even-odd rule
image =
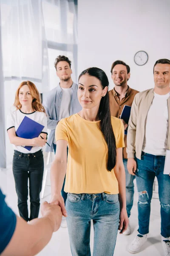
[[[127,170],[127,159],[123,158],[123,164],[125,167],[125,174],[126,174],[126,210],[127,216],[130,217],[130,211],[133,207],[133,195],[134,195],[134,179],[135,176],[129,174]]]

